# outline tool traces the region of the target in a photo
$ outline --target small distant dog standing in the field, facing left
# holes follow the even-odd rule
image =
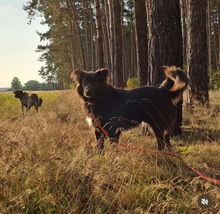
[[[38,99],[38,96],[36,94],[28,94],[21,90],[16,90],[13,92],[15,94],[15,98],[18,98],[21,102],[22,114],[24,114],[24,106],[26,107],[26,115],[32,106],[34,106],[36,112],[38,112],[38,107],[40,107],[43,102],[41,98]]]

